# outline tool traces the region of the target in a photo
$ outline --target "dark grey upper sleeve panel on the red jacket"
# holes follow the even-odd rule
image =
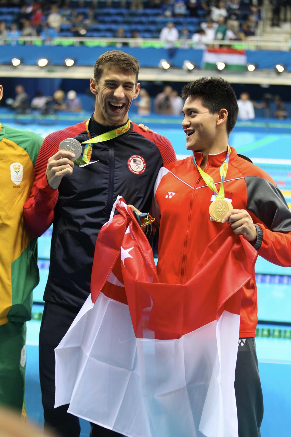
[[[273,232],[291,232],[291,211],[281,191],[268,180],[247,176],[246,209]]]

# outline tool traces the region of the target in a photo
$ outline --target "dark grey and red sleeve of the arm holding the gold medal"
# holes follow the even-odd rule
[[[291,211],[274,182],[245,177],[247,210],[257,228],[258,254],[283,267],[291,266]]]

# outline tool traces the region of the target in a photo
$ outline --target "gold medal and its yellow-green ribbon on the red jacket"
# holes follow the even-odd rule
[[[229,146],[227,146],[227,153],[226,153],[226,159],[223,161],[219,168],[219,173],[221,177],[221,184],[219,188],[219,192],[216,191],[216,186],[214,183],[214,180],[212,177],[205,173],[196,163],[195,156],[193,153],[193,164],[197,167],[197,170],[201,174],[202,179],[204,180],[205,184],[208,185],[208,187],[214,192],[215,200],[210,204],[209,206],[209,214],[212,220],[215,222],[221,222],[223,217],[226,215],[227,212],[229,212],[231,209],[233,209],[231,203],[227,201],[224,198],[224,187],[223,182],[226,178],[226,173],[228,169],[228,163],[229,163],[229,155],[231,153],[231,149]]]

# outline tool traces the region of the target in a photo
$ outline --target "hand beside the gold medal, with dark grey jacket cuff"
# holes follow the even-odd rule
[[[241,234],[247,241],[255,241],[257,239],[256,226],[245,209],[232,209],[224,216],[221,222],[229,222],[233,232],[236,235]]]

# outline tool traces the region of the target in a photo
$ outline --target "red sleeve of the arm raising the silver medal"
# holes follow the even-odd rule
[[[34,184],[30,197],[23,207],[25,224],[33,237],[41,236],[50,227],[58,201],[58,190],[49,187],[46,177],[48,158],[58,152],[58,146],[63,139],[72,138],[84,132],[85,123],[83,121],[75,126],[53,132],[42,143],[34,167]]]

